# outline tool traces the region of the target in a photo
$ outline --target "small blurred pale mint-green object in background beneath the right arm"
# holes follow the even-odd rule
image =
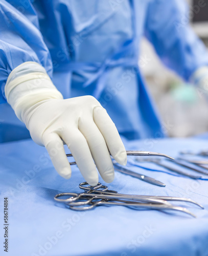
[[[195,87],[188,83],[180,83],[179,86],[172,88],[171,95],[175,100],[187,103],[193,103],[198,100]]]

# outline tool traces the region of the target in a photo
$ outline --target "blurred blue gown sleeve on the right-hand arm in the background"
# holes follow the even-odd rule
[[[208,53],[189,24],[184,0],[154,0],[149,4],[145,36],[153,44],[161,61],[184,80],[199,67],[208,66]]]

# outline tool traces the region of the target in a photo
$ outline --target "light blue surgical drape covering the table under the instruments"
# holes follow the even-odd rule
[[[181,150],[207,148],[207,140],[198,138],[131,142],[124,139],[124,143],[129,150],[155,151],[172,157]],[[108,184],[109,189],[119,193],[191,198],[205,209],[190,203],[172,203],[186,206],[197,219],[178,211],[123,206],[99,206],[77,212],[53,199],[60,192],[81,191],[78,185],[83,178],[76,166],[72,166],[72,178],[63,179],[56,173],[45,148],[31,140],[2,143],[0,162],[1,220],[4,197],[9,198],[8,255],[208,255],[208,176],[206,180],[193,180],[128,165],[135,172],[164,182],[166,187],[118,172]],[[163,170],[149,163],[145,166]],[[105,184],[101,178],[99,181]],[[3,244],[3,230],[0,236]]]

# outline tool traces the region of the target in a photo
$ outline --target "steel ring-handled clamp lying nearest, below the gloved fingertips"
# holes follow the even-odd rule
[[[117,191],[108,190],[101,183],[89,186],[87,182],[82,182],[79,187],[84,190],[83,193],[60,193],[54,199],[65,203],[72,210],[90,210],[99,205],[120,205],[134,209],[178,210],[196,218],[187,208],[172,205],[168,201],[189,202],[203,209],[203,206],[187,198],[119,194]]]

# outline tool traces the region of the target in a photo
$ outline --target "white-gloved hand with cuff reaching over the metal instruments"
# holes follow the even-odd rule
[[[117,162],[126,164],[125,147],[101,104],[93,96],[63,99],[44,68],[36,62],[25,62],[11,72],[5,95],[32,139],[47,148],[62,177],[71,177],[63,141],[90,185],[98,183],[96,166],[104,181],[113,181],[109,151]]]

